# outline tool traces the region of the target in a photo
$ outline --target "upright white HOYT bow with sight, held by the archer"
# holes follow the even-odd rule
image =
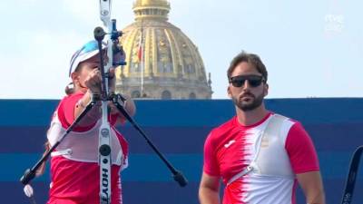
[[[113,56],[115,53],[122,52],[118,46],[118,38],[122,35],[122,32],[118,32],[116,29],[116,20],[111,20],[111,0],[100,0],[100,18],[103,21],[103,25],[107,28],[107,56],[108,62],[103,66],[103,47],[102,41],[106,33],[104,33],[101,27],[94,29],[94,38],[98,42],[99,55],[100,55],[100,69],[102,74],[101,85],[101,100],[102,100],[102,125],[99,131],[99,165],[100,165],[100,202],[102,204],[111,203],[111,127],[108,121],[108,101],[110,90],[108,87],[108,73],[113,65],[123,65],[121,63],[113,63]]]

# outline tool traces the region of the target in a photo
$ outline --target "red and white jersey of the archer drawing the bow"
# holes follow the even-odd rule
[[[74,106],[83,97],[75,93],[60,102],[47,137],[51,145],[63,136],[74,121]],[[112,125],[112,204],[121,204],[120,171],[127,167],[128,144],[114,129],[117,115],[110,116]],[[52,153],[52,183],[48,204],[99,204],[100,167],[98,165],[98,141],[101,119],[89,127],[77,127]]]

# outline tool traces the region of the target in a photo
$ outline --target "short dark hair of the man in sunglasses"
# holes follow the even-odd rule
[[[252,64],[257,69],[257,71],[260,74],[262,74],[262,77],[263,77],[265,83],[267,82],[268,73],[267,73],[265,64],[263,64],[262,61],[260,60],[260,56],[255,53],[246,53],[244,51],[237,54],[231,61],[230,67],[228,68],[228,71],[227,71],[228,80],[230,80],[231,74],[233,73],[236,66],[242,62]]]

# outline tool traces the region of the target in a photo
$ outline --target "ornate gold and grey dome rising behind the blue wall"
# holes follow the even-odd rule
[[[126,53],[123,69],[117,69],[116,91],[132,98],[211,99],[198,48],[168,22],[167,0],[136,0],[135,22],[123,29]]]

